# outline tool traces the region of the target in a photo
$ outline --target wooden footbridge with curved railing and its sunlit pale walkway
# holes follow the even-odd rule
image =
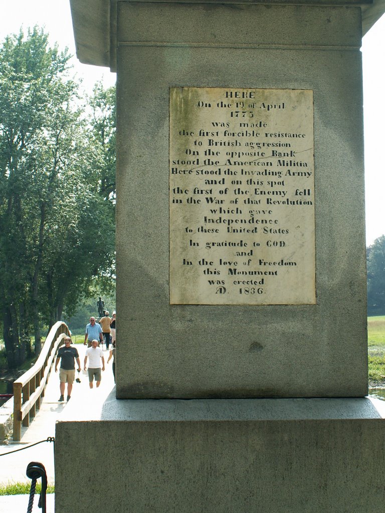
[[[29,462],[40,461],[47,470],[48,480],[54,480],[53,440],[55,423],[64,420],[71,410],[102,408],[114,388],[112,361],[107,365],[109,351],[104,350],[105,368],[99,388],[88,385],[87,372],[80,373],[81,383],[74,383],[71,399],[59,402],[59,372],[55,373],[54,361],[57,349],[69,334],[65,323],[56,323],[50,330],[35,365],[14,382],[13,435],[6,444],[0,445],[0,484],[13,481],[29,481],[25,470]],[[86,346],[76,344],[83,368]],[[77,376],[77,374],[76,374]],[[66,397],[66,396],[65,396]],[[51,439],[51,441],[47,441]],[[37,442],[45,441],[32,446]],[[15,449],[25,449],[13,452]],[[6,455],[6,456],[2,456]]]

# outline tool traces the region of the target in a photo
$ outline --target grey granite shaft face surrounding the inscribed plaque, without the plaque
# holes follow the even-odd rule
[[[118,9],[118,397],[364,396],[360,10]],[[169,90],[230,86],[313,91],[314,305],[170,305]]]

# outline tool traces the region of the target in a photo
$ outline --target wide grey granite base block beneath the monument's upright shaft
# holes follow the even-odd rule
[[[383,511],[385,423],[369,399],[111,395],[57,423],[56,442],[56,513]]]

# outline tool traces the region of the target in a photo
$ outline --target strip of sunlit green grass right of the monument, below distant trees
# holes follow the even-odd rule
[[[385,315],[368,317],[370,386],[385,386]]]

